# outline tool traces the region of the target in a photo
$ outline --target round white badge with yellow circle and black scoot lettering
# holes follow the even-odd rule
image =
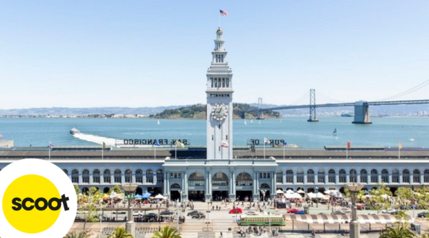
[[[46,161],[24,160],[19,171],[15,163],[0,172],[0,237],[64,237],[76,215],[73,184],[62,170]],[[22,173],[22,165],[31,165],[33,173]],[[38,166],[35,166],[35,165]],[[13,165],[13,166],[12,166]],[[46,167],[51,169],[46,170]],[[3,177],[12,172],[6,188]],[[20,176],[15,175],[20,174]],[[9,174],[10,175],[10,174]],[[3,193],[3,197],[1,194]],[[1,216],[3,212],[3,217]],[[5,229],[6,228],[6,231]]]

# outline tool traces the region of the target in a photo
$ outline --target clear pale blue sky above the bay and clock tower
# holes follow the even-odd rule
[[[219,9],[234,102],[380,100],[429,80],[427,0],[14,0],[0,109],[205,103]]]

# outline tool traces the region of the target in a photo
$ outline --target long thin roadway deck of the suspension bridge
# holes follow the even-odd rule
[[[361,101],[365,102],[365,101]],[[400,104],[429,104],[429,100],[400,100],[400,101],[384,101],[384,102],[365,102],[368,106],[384,106],[384,105],[400,105]],[[343,102],[343,103],[326,103],[326,104],[315,104],[313,107],[354,107],[356,102]],[[284,106],[284,107],[271,107],[264,109],[254,109],[248,110],[246,113],[255,112],[255,111],[278,111],[278,110],[288,110],[288,109],[303,109],[310,108],[312,105],[297,105],[297,106]]]

